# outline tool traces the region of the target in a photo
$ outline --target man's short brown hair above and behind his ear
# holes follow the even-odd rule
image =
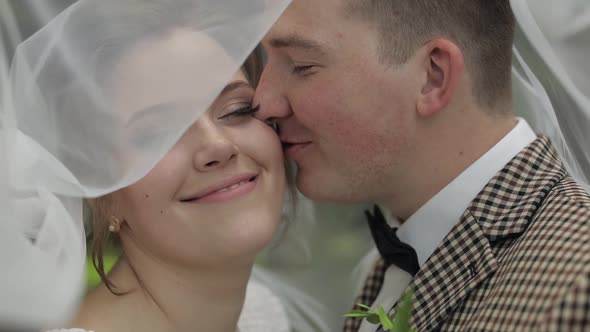
[[[425,42],[443,37],[463,51],[482,105],[510,94],[515,19],[509,0],[344,0],[349,14],[381,35],[384,62],[404,63]]]

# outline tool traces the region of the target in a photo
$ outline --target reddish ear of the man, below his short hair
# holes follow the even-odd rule
[[[461,49],[448,39],[434,39],[420,53],[426,75],[417,111],[419,116],[428,117],[445,109],[457,94],[465,63]]]

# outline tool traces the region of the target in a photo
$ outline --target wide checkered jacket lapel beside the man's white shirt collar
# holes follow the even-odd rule
[[[439,327],[471,290],[494,274],[499,264],[494,243],[526,231],[549,190],[564,176],[549,141],[540,137],[486,185],[408,286],[414,293],[412,322],[418,331]]]

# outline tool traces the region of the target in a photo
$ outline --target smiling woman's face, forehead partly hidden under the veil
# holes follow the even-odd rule
[[[117,65],[115,104],[137,109],[184,100],[187,87],[198,94],[202,78],[187,64],[200,46],[179,31],[134,47]],[[253,95],[236,73],[147,176],[113,194],[130,259],[140,253],[181,264],[247,262],[270,242],[280,222],[284,164],[276,133],[252,116]]]

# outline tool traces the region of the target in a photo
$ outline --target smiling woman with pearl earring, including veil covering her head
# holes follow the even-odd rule
[[[260,23],[280,12],[254,3],[79,1],[20,46],[16,141],[47,162],[15,168],[27,174],[14,186],[54,193],[73,223],[69,203],[87,197],[92,215],[102,283],[73,331],[288,331],[271,291],[248,286],[286,190],[279,139],[253,117],[260,54],[238,69]],[[73,234],[75,245],[59,217],[45,227]],[[123,254],[106,274],[109,237]],[[238,324],[247,287],[265,321]]]

